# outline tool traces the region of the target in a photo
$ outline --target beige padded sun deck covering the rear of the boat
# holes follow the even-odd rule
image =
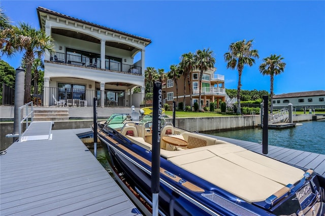
[[[179,152],[179,153],[178,153]],[[248,201],[264,201],[304,171],[231,143],[175,151],[167,159]]]

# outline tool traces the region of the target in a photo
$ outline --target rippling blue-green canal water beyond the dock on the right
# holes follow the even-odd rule
[[[325,121],[302,122],[302,126],[286,129],[269,129],[269,145],[314,152],[325,155]],[[212,133],[251,142],[262,142],[262,129],[253,128]]]

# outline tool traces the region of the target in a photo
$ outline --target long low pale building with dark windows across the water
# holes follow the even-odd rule
[[[297,111],[301,109],[325,109],[325,91],[305,91],[273,96],[273,109],[282,109],[293,104]]]

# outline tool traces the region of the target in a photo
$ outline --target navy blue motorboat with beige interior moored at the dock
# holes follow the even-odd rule
[[[120,185],[152,213],[152,118],[98,127]],[[324,215],[325,178],[161,120],[160,215]]]

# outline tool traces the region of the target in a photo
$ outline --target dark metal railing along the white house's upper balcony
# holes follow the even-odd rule
[[[50,61],[57,63],[65,63],[71,65],[79,65],[90,68],[101,68],[101,59],[89,58],[79,55],[71,55],[66,53],[51,52]],[[117,61],[105,61],[105,69],[120,71],[129,74],[142,74],[141,67],[130,64],[122,64]]]

